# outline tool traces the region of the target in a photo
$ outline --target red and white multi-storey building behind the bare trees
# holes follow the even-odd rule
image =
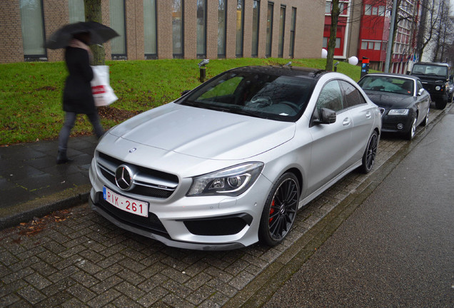
[[[383,71],[388,47],[392,1],[340,0],[338,38],[335,58],[356,56],[369,59],[370,68]],[[406,73],[410,69],[416,49],[420,0],[400,0],[397,9],[397,31],[390,72]],[[331,0],[326,1],[323,46],[327,46],[331,27]]]

